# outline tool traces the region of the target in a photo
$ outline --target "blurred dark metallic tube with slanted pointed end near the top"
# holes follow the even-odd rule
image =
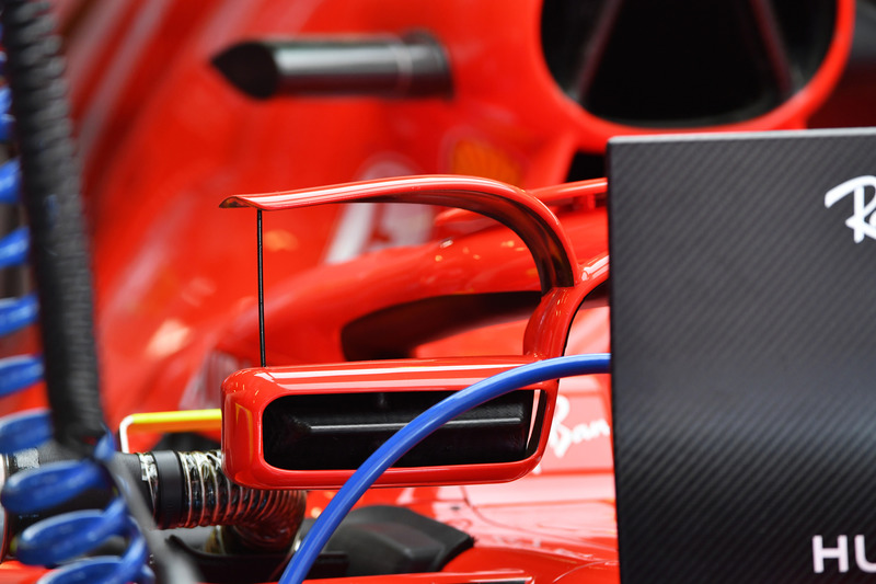
[[[212,60],[234,87],[275,95],[427,96],[448,94],[443,48],[427,35],[250,41]]]

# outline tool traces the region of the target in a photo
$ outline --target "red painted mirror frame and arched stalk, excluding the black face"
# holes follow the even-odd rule
[[[592,185],[565,190],[564,197],[591,194]],[[263,447],[265,408],[286,394],[348,393],[365,391],[461,390],[533,357],[560,356],[572,319],[595,282],[604,280],[607,257],[581,271],[558,220],[539,199],[520,188],[464,176],[412,176],[312,190],[237,195],[223,207],[250,206],[261,210],[289,210],[309,205],[391,201],[451,205],[498,219],[520,234],[535,259],[543,298],[527,327],[523,347],[529,357],[461,358],[443,360],[381,360],[325,366],[252,368],[222,383],[222,450],[224,470],[242,484],[257,488],[339,488],[348,471],[290,471],[266,462]],[[534,387],[533,387],[534,389]],[[551,420],[556,403],[556,382],[538,386],[544,399],[544,416]],[[459,465],[423,469],[393,468],[378,484],[419,485],[460,482],[496,482],[519,479],[541,460],[551,427],[537,423],[538,445],[523,460],[493,465]]]

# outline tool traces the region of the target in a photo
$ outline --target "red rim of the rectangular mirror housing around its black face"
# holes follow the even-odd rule
[[[405,359],[325,366],[253,368],[222,383],[223,470],[235,482],[258,489],[339,489],[356,469],[284,470],[265,460],[263,414],[284,396],[382,391],[459,391],[492,375],[532,363],[525,357],[493,359]],[[556,382],[521,389],[541,390],[545,419],[553,415]],[[548,445],[550,424],[537,423],[538,447],[522,460],[489,465],[391,468],[377,484],[397,486],[512,481],[532,470]]]

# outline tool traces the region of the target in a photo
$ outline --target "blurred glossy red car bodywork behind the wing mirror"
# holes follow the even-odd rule
[[[240,193],[312,188],[320,203],[265,217],[269,365],[526,360],[609,350],[599,287],[608,277],[606,181],[563,183],[577,153],[599,154],[611,136],[668,128],[609,122],[568,99],[542,57],[542,2],[511,4],[57,2],[111,426],[136,412],[218,406],[222,379],[257,363],[254,214],[219,206]],[[853,14],[853,1],[837,2],[821,65],[780,106],[731,124],[671,130],[805,127],[840,79]],[[254,37],[424,30],[447,51],[449,96],[254,101],[210,65],[226,47]],[[344,205],[385,195],[388,182],[318,188],[414,174],[495,179],[515,196],[541,199],[555,215],[561,249],[574,259],[573,282],[545,286],[542,271],[540,285],[540,262],[550,262],[551,250],[533,262],[520,237],[470,213],[387,197]],[[423,181],[453,190],[480,179]],[[415,195],[404,183],[393,201]],[[583,280],[586,288],[573,286]],[[540,291],[551,301],[539,304]],[[489,310],[491,295],[500,293],[523,294]],[[563,381],[541,462],[512,483],[370,491],[365,503],[404,505],[471,534],[476,546],[440,574],[355,582],[618,582],[609,394],[608,376]],[[30,393],[7,409],[38,401]],[[312,492],[308,514],[318,516],[331,496]],[[0,566],[3,582],[33,577],[18,564]]]

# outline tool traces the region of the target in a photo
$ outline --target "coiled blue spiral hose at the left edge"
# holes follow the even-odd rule
[[[0,61],[4,62],[4,59],[3,55]],[[13,121],[8,113],[10,105],[9,88],[0,89],[0,141],[11,139]],[[18,204],[20,191],[19,162],[12,160],[0,167],[0,204]],[[2,237],[0,268],[25,264],[30,248],[30,232],[25,227]],[[0,336],[36,323],[38,311],[35,294],[0,299]],[[43,377],[43,359],[38,355],[0,359],[0,397],[24,390]],[[36,448],[53,435],[53,423],[46,410],[7,416],[0,421],[0,454],[12,455]],[[11,549],[22,563],[47,566],[65,564],[41,579],[41,583],[154,582],[154,574],[147,565],[146,540],[107,470],[114,451],[113,437],[106,433],[84,460],[54,462],[22,470],[5,481],[0,492],[0,503],[7,512],[19,515],[39,514],[90,489],[114,494],[104,509],[56,515],[27,527],[15,538]],[[129,542],[122,557],[94,557],[71,562],[114,536],[122,536]]]

